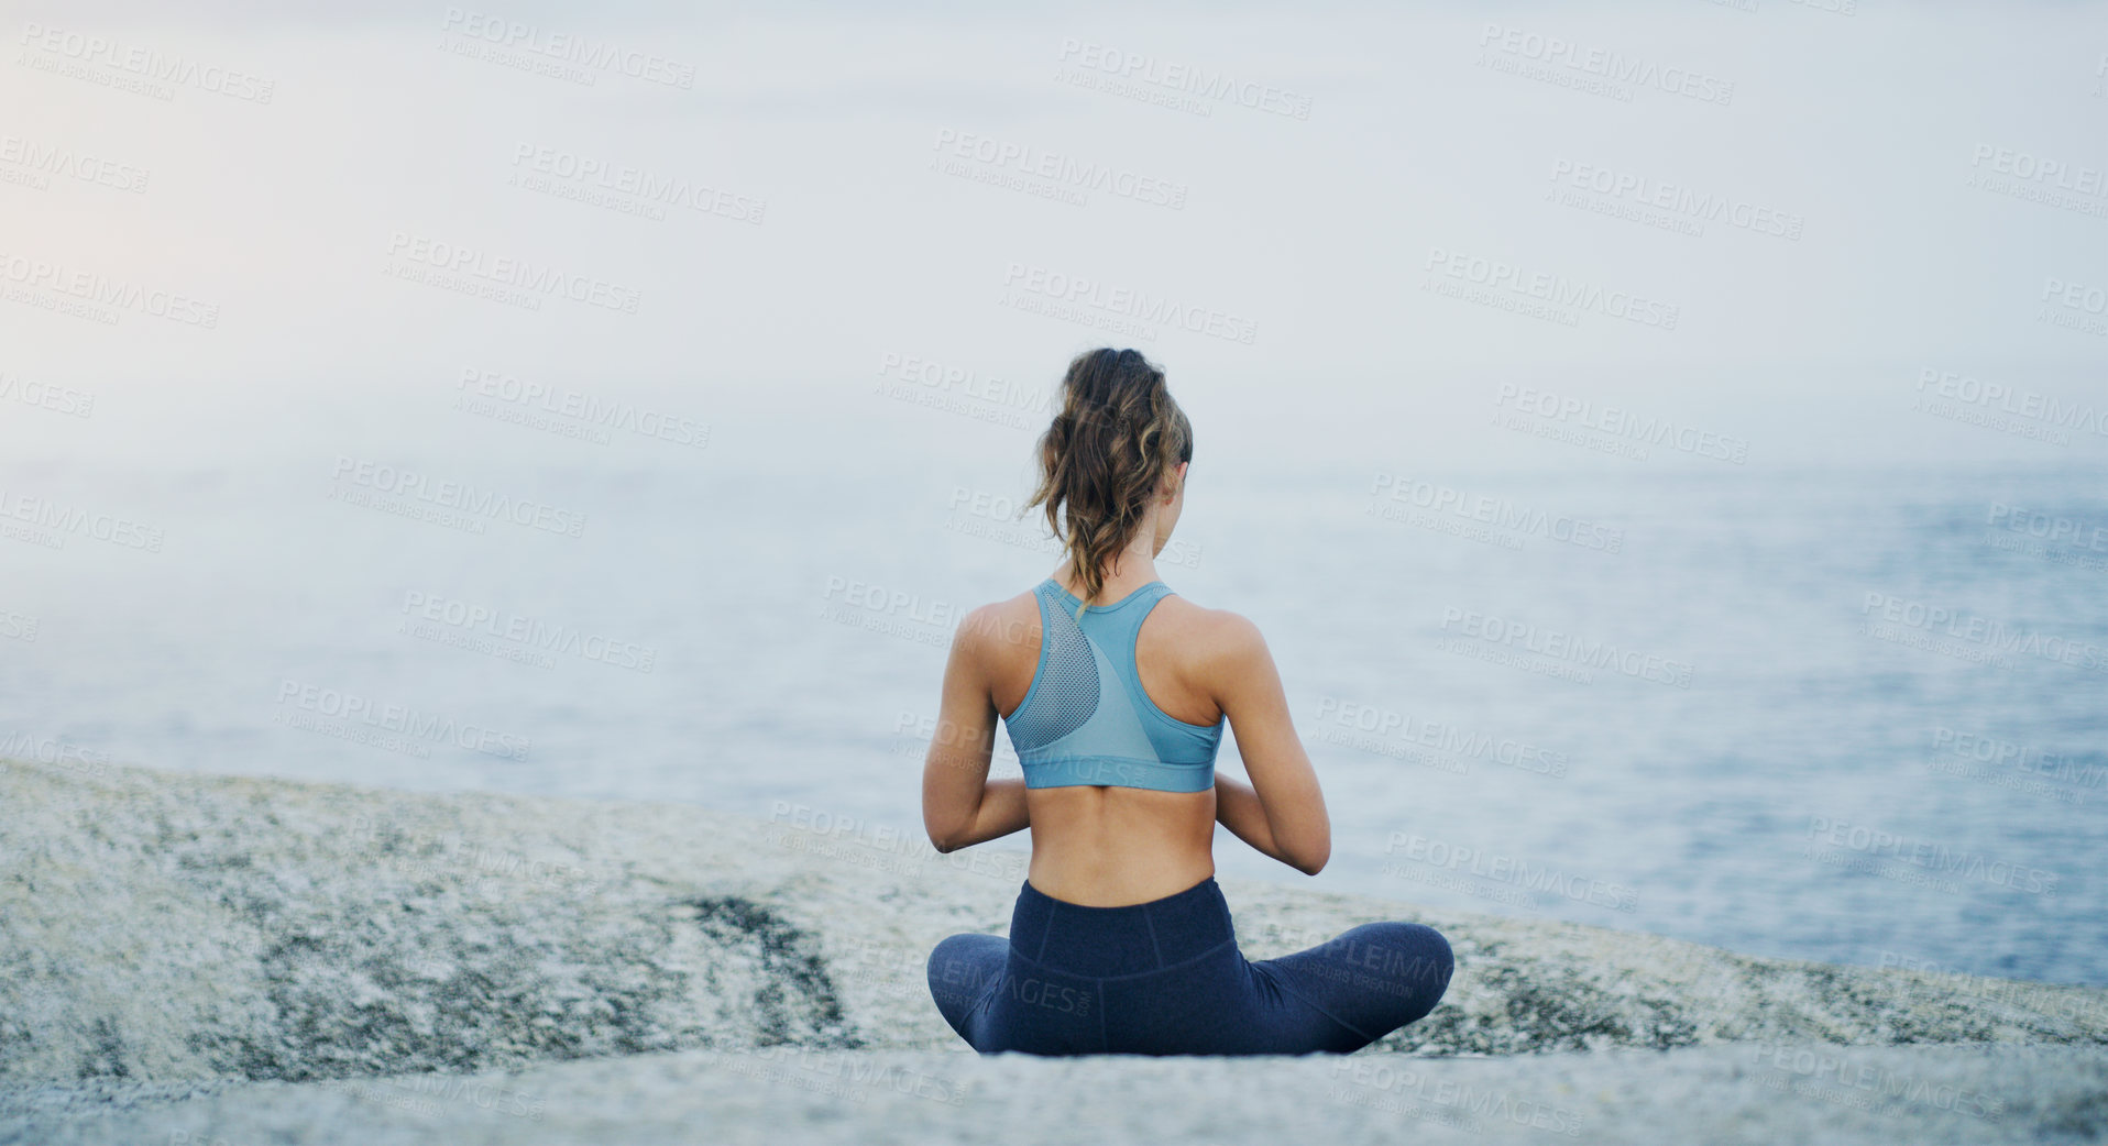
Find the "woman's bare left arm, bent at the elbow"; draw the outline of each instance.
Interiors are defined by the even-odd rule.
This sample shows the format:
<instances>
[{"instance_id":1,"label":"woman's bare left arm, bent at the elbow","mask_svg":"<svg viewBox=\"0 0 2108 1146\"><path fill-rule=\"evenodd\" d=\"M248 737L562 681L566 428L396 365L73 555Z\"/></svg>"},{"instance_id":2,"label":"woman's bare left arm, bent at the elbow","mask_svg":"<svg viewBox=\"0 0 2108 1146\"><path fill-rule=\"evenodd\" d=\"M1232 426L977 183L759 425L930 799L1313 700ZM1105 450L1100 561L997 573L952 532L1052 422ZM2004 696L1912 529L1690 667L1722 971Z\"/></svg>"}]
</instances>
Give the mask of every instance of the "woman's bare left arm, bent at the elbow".
<instances>
[{"instance_id":1,"label":"woman's bare left arm, bent at the elbow","mask_svg":"<svg viewBox=\"0 0 2108 1146\"><path fill-rule=\"evenodd\" d=\"M1022 779L989 779L995 752L995 702L982 649L995 632L993 605L974 609L951 636L944 693L923 758L923 830L930 847L959 851L1031 826Z\"/></svg>"}]
</instances>

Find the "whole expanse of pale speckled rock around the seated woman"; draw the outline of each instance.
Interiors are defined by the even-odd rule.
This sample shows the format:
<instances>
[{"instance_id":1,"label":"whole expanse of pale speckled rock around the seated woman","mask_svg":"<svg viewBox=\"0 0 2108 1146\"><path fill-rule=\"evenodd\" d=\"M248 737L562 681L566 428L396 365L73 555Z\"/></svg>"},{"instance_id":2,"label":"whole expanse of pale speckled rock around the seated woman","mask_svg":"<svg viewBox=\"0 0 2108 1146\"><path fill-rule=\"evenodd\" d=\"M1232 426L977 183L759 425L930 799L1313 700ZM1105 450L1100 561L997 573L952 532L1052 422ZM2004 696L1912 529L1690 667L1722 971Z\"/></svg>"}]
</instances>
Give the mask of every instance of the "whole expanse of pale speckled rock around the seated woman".
<instances>
[{"instance_id":1,"label":"whole expanse of pale speckled rock around the seated woman","mask_svg":"<svg viewBox=\"0 0 2108 1146\"><path fill-rule=\"evenodd\" d=\"M1128 1095L1088 1104L1113 1140L1286 1131L1288 1114L1252 1106L1267 1095L1318 1104L1349 1138L1400 1119L1429 1140L1465 1123L1547 1133L1436 1098L1463 1091L1566 1110L1594 1138L1670 1110L1655 1081L1684 1106L1703 1087L1710 1110L1798 1112L1811 1142L1823 1127L2108 1131L2100 988L1750 959L1225 881L1254 959L1408 918L1448 935L1457 980L1433 1015L1351 1060L980 1060L930 1005L923 961L953 931L1006 929L1020 851L936 855L801 807L757 822L19 763L0 771L0 1140L656 1142L681 1138L668 1110L687 1110L696 1140L772 1133L748 1108L809 1119L814 1140L898 1108L928 1131L902 1140L944 1140L957 1133L930 1127L970 1129L970 1106L1073 1123L1058 1091L1073 1106L1102 1087ZM1899 1047L1931 1043L2026 1047ZM1828 1066L1800 1070L1802 1053ZM1389 1083L1358 1076L1366 1064ZM1838 1095L1796 1091L1826 1079ZM1159 1087L1208 1100L1166 1104ZM540 1114L504 1110L529 1100ZM626 1123L630 1100L651 1114Z\"/></svg>"}]
</instances>

